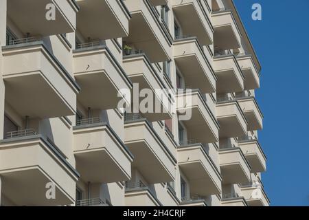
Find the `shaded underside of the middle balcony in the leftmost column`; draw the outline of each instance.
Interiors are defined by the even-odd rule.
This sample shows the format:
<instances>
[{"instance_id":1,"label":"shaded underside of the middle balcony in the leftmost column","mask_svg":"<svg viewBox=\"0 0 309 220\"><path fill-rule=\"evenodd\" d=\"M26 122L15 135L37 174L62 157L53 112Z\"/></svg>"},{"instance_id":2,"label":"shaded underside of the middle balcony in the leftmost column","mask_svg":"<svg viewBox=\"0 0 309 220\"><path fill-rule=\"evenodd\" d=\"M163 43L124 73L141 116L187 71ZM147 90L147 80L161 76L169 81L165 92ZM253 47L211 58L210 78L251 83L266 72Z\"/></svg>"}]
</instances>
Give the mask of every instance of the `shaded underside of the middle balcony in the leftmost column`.
<instances>
[{"instance_id":1,"label":"shaded underside of the middle balcony in the leftmost column","mask_svg":"<svg viewBox=\"0 0 309 220\"><path fill-rule=\"evenodd\" d=\"M41 72L3 76L3 80L5 101L21 116L43 119L75 112Z\"/></svg>"}]
</instances>

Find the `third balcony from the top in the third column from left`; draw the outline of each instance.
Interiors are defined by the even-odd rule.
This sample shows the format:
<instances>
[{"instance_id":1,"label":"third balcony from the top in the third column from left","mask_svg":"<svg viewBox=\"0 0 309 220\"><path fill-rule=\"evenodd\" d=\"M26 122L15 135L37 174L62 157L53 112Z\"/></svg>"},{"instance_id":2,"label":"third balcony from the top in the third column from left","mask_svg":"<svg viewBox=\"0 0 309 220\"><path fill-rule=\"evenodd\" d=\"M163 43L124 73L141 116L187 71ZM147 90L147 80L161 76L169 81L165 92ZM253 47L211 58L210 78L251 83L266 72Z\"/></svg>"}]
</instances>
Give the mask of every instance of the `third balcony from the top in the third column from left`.
<instances>
[{"instance_id":1,"label":"third balcony from the top in the third column from left","mask_svg":"<svg viewBox=\"0 0 309 220\"><path fill-rule=\"evenodd\" d=\"M132 167L148 184L174 181L176 159L146 119L126 116L124 134L124 143L134 155Z\"/></svg>"}]
</instances>

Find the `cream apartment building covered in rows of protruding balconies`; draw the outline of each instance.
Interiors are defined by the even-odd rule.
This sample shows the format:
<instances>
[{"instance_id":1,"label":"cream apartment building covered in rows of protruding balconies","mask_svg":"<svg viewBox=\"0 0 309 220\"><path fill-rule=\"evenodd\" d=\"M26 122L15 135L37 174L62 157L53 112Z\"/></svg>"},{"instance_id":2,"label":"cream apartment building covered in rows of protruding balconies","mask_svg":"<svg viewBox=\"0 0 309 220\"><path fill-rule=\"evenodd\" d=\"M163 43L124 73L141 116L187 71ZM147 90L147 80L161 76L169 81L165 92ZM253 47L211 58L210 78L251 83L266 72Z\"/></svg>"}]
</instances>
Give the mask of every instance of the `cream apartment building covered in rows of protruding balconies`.
<instances>
[{"instance_id":1,"label":"cream apartment building covered in rows of protruding balconies","mask_svg":"<svg viewBox=\"0 0 309 220\"><path fill-rule=\"evenodd\" d=\"M0 0L0 44L2 206L269 205L233 1Z\"/></svg>"}]
</instances>

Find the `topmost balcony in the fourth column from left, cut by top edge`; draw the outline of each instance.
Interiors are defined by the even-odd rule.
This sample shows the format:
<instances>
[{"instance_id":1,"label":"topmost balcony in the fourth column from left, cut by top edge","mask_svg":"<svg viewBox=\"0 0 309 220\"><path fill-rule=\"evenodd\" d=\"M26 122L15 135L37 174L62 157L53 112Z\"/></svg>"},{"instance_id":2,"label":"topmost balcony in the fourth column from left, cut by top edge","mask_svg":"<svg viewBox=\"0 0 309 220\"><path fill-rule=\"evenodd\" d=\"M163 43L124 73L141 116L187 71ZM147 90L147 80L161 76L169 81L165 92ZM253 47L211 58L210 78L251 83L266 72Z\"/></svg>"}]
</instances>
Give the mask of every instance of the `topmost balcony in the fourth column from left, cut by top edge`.
<instances>
[{"instance_id":1,"label":"topmost balcony in the fourth column from left, cut by top edge","mask_svg":"<svg viewBox=\"0 0 309 220\"><path fill-rule=\"evenodd\" d=\"M213 44L214 28L200 1L172 0L172 9L181 25L183 34L196 36L202 45Z\"/></svg>"}]
</instances>

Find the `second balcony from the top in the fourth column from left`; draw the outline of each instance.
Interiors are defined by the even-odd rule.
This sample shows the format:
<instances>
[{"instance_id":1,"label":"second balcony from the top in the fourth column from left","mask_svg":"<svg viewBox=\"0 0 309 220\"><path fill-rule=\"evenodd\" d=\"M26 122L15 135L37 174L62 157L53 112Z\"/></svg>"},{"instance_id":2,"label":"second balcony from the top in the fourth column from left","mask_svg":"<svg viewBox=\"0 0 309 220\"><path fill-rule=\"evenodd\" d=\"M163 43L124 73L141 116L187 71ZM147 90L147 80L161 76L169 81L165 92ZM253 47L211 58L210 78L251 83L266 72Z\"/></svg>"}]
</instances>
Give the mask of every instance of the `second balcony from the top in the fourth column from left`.
<instances>
[{"instance_id":1,"label":"second balcony from the top in the fourth column from left","mask_svg":"<svg viewBox=\"0 0 309 220\"><path fill-rule=\"evenodd\" d=\"M187 85L200 89L204 94L216 91L216 76L195 37L178 36L173 50L174 60Z\"/></svg>"}]
</instances>

